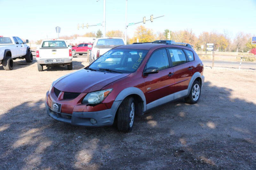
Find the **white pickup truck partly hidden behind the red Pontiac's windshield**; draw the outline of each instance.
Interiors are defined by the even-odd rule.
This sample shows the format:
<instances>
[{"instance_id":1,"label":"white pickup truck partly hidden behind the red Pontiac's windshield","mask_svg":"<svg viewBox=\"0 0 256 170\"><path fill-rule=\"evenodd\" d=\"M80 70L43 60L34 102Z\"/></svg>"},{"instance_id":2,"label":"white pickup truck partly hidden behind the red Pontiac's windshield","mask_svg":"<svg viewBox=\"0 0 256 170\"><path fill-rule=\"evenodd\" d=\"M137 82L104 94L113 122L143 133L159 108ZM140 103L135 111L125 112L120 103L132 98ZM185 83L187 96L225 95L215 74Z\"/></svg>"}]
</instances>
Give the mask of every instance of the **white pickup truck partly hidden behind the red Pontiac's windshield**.
<instances>
[{"instance_id":1,"label":"white pickup truck partly hidden behind the red Pontiac's windshield","mask_svg":"<svg viewBox=\"0 0 256 170\"><path fill-rule=\"evenodd\" d=\"M91 64L110 49L124 44L124 40L118 37L97 38L92 46L89 63Z\"/></svg>"}]
</instances>

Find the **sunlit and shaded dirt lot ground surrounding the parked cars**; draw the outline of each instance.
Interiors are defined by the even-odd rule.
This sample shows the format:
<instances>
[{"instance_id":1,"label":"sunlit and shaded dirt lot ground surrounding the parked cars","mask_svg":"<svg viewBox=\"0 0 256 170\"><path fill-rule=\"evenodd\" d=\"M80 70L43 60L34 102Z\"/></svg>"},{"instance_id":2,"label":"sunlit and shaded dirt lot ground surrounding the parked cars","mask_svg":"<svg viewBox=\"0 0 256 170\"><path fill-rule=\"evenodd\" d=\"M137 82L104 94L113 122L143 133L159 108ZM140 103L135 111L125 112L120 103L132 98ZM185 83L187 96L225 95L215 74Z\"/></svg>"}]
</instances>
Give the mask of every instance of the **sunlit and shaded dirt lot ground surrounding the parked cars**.
<instances>
[{"instance_id":1,"label":"sunlit and shaded dirt lot ground surrounding the parked cars","mask_svg":"<svg viewBox=\"0 0 256 170\"><path fill-rule=\"evenodd\" d=\"M74 70L87 65L74 58ZM52 81L34 60L0 66L0 169L256 169L256 71L205 67L195 105L183 100L136 118L131 133L85 128L46 114Z\"/></svg>"}]
</instances>

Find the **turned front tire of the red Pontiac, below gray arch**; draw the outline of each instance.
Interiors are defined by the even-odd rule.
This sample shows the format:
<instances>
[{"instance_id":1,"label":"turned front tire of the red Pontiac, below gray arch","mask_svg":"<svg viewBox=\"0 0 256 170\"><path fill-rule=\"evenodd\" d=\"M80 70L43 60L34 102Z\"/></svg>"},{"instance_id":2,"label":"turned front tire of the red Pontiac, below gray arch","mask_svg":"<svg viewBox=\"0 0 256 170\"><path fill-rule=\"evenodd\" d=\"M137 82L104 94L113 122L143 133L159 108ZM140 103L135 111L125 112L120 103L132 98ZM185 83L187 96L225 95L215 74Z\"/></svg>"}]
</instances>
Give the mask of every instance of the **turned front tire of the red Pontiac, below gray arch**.
<instances>
[{"instance_id":1,"label":"turned front tire of the red Pontiac, below gray arch","mask_svg":"<svg viewBox=\"0 0 256 170\"><path fill-rule=\"evenodd\" d=\"M117 109L117 129L122 132L132 131L135 116L135 101L132 97L123 100Z\"/></svg>"}]
</instances>

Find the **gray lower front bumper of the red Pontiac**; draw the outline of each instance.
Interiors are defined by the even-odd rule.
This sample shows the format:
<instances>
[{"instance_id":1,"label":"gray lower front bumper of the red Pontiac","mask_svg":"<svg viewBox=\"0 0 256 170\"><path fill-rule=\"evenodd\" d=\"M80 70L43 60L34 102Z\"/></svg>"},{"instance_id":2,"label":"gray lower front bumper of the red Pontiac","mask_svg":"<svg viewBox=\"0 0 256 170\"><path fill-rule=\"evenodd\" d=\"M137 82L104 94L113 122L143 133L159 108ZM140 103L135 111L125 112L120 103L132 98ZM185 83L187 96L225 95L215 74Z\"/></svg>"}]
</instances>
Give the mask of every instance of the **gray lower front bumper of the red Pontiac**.
<instances>
[{"instance_id":1,"label":"gray lower front bumper of the red Pontiac","mask_svg":"<svg viewBox=\"0 0 256 170\"><path fill-rule=\"evenodd\" d=\"M46 112L53 119L60 122L70 123L72 125L87 126L87 127L100 127L109 126L114 123L117 108L121 104L121 101L114 101L110 109L101 110L97 112L73 112L73 114L57 113L50 109L46 101L44 101ZM92 124L90 119L93 118L97 122Z\"/></svg>"}]
</instances>

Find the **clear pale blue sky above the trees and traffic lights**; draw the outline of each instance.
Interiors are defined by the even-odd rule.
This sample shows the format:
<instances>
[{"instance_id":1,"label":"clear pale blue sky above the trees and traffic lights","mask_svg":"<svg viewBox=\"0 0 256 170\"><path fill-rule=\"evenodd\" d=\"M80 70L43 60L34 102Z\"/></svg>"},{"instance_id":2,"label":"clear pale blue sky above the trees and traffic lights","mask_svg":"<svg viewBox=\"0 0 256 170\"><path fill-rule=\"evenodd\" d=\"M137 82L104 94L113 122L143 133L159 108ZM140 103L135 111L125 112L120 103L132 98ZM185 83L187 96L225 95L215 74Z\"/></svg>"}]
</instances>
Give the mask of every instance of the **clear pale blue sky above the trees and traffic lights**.
<instances>
[{"instance_id":1,"label":"clear pale blue sky above the trees and traffic lights","mask_svg":"<svg viewBox=\"0 0 256 170\"><path fill-rule=\"evenodd\" d=\"M17 35L23 39L55 38L60 35L84 34L102 30L102 26L80 28L77 24L97 24L103 21L103 0L0 0L0 35ZM128 0L127 22L139 22L165 15L142 24L156 33L168 28L173 31L192 29L203 31L224 29L231 36L243 31L256 35L256 0ZM128 27L128 36L140 24ZM106 0L106 31L125 26L125 0Z\"/></svg>"}]
</instances>

